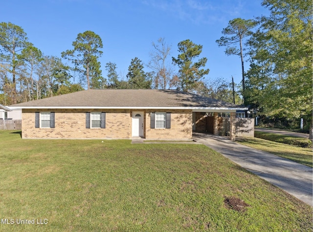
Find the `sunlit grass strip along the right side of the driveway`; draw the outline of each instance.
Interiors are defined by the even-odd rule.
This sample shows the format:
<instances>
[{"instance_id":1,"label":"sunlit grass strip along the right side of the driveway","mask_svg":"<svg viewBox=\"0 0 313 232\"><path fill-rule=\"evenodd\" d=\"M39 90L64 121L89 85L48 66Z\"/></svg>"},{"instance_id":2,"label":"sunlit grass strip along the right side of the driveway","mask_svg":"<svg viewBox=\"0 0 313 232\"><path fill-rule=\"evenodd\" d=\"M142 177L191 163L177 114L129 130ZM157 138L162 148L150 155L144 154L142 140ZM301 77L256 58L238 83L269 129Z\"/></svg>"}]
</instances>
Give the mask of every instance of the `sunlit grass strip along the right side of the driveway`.
<instances>
[{"instance_id":1,"label":"sunlit grass strip along the right side of the driveway","mask_svg":"<svg viewBox=\"0 0 313 232\"><path fill-rule=\"evenodd\" d=\"M237 138L236 142L312 167L312 148L301 148L260 138Z\"/></svg>"}]
</instances>

